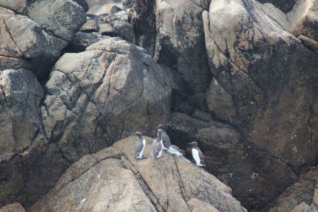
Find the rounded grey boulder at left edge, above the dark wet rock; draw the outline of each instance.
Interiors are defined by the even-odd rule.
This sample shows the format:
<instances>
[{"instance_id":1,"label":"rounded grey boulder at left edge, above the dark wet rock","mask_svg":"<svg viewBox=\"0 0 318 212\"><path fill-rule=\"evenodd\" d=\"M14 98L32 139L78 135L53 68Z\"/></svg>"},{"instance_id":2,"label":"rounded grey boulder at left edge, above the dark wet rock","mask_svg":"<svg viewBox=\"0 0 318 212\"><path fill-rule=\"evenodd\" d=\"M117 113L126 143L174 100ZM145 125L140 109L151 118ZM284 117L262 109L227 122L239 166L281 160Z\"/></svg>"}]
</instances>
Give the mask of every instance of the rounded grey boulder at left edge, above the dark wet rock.
<instances>
[{"instance_id":1,"label":"rounded grey boulder at left edge, above the dark wet rock","mask_svg":"<svg viewBox=\"0 0 318 212\"><path fill-rule=\"evenodd\" d=\"M43 90L26 69L0 71L0 163L31 145Z\"/></svg>"}]
</instances>

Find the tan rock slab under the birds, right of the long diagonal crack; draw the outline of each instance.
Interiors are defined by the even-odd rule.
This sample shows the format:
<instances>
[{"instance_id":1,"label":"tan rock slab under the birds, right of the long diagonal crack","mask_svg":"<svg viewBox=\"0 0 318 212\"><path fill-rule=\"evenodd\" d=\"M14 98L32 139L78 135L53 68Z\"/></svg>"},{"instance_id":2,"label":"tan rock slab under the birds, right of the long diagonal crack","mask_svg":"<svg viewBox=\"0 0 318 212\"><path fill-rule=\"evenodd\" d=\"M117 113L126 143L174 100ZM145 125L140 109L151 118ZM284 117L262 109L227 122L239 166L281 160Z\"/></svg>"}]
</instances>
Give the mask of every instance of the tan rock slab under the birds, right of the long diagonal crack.
<instances>
[{"instance_id":1,"label":"tan rock slab under the birds, right of the long diagonal crack","mask_svg":"<svg viewBox=\"0 0 318 212\"><path fill-rule=\"evenodd\" d=\"M151 152L154 139L145 138L144 153ZM132 147L136 139L128 137L116 142L125 156L124 165L133 170L136 176L141 176L147 185L152 202L158 211L190 211L187 201L197 198L220 211L245 211L235 200L232 190L221 183L216 177L185 161L185 158L175 157L163 152L163 158L137 161L134 160ZM147 190L147 189L145 189Z\"/></svg>"}]
</instances>

